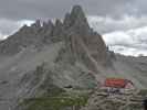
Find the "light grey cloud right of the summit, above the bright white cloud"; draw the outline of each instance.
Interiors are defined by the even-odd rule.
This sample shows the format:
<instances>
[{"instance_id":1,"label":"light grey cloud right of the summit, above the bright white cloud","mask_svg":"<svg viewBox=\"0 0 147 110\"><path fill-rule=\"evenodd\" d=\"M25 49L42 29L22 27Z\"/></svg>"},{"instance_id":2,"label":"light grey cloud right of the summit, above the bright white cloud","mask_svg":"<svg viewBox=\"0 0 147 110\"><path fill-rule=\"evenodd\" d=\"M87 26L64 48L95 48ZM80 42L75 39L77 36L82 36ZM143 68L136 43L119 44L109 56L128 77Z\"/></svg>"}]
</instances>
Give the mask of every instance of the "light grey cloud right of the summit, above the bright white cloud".
<instances>
[{"instance_id":1,"label":"light grey cloud right of the summit, above the bright white cloud","mask_svg":"<svg viewBox=\"0 0 147 110\"><path fill-rule=\"evenodd\" d=\"M124 15L116 20L111 16L91 15L87 19L91 26L102 34L114 31L128 31L147 25L147 16Z\"/></svg>"}]
</instances>

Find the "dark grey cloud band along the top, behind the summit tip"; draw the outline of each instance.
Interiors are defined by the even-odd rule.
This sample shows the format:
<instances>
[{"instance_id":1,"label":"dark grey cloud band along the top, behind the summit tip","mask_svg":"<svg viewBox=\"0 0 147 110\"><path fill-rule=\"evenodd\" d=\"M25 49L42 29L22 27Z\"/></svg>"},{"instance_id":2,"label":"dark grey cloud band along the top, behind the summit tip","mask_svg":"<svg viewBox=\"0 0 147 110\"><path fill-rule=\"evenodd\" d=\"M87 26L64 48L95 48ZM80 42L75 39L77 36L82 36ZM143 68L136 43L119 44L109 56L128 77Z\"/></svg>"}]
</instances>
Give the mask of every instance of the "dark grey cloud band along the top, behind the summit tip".
<instances>
[{"instance_id":1,"label":"dark grey cloud band along the top, behind the summit tip","mask_svg":"<svg viewBox=\"0 0 147 110\"><path fill-rule=\"evenodd\" d=\"M63 18L73 4L81 4L87 14L122 15L134 0L1 0L0 18ZM127 11L126 11L127 10ZM133 10L130 8L130 10Z\"/></svg>"}]
</instances>

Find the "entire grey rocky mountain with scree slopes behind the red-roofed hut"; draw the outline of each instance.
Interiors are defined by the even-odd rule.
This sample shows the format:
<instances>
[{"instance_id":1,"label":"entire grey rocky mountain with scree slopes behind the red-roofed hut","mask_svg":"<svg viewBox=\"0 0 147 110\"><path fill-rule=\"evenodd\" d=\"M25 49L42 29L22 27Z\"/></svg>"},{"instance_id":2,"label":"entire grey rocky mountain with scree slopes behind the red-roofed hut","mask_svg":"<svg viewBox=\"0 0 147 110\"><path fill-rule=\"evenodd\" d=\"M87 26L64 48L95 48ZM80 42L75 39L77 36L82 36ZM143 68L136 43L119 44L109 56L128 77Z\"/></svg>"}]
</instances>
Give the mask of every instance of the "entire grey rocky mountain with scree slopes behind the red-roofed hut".
<instances>
[{"instance_id":1,"label":"entire grey rocky mountain with scree slopes behind the red-roofed hut","mask_svg":"<svg viewBox=\"0 0 147 110\"><path fill-rule=\"evenodd\" d=\"M74 6L63 21L36 20L0 42L0 110L27 110L15 109L24 98L93 89L106 77L128 78L145 88L146 61L111 53L82 8Z\"/></svg>"}]
</instances>

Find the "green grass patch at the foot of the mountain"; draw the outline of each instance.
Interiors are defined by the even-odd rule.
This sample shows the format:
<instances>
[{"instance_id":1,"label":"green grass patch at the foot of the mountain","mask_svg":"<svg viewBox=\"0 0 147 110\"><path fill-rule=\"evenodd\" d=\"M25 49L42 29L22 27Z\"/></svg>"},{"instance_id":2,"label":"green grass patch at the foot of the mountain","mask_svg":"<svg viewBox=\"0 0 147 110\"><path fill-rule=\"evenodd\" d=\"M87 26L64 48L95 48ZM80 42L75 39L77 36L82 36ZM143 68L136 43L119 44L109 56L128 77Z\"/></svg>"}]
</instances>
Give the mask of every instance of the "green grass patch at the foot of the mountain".
<instances>
[{"instance_id":1,"label":"green grass patch at the foot of the mountain","mask_svg":"<svg viewBox=\"0 0 147 110\"><path fill-rule=\"evenodd\" d=\"M56 97L39 97L24 99L22 106L25 110L64 110L65 108L83 107L88 95L61 94Z\"/></svg>"}]
</instances>

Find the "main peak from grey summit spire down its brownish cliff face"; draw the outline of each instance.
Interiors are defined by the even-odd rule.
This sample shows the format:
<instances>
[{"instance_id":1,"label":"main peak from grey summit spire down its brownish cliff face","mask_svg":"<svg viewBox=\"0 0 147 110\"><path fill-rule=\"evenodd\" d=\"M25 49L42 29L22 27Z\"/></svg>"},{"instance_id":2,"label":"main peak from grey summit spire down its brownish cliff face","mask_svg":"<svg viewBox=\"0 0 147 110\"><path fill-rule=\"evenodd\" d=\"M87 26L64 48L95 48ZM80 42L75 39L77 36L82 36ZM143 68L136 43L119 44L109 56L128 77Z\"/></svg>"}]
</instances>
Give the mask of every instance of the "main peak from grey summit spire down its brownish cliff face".
<instances>
[{"instance_id":1,"label":"main peak from grey summit spire down its brownish cliff face","mask_svg":"<svg viewBox=\"0 0 147 110\"><path fill-rule=\"evenodd\" d=\"M80 6L67 13L63 23L75 57L97 73L98 64L108 64L106 45L99 34L94 32Z\"/></svg>"}]
</instances>

